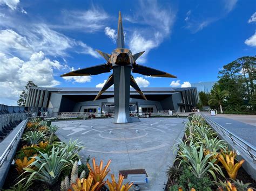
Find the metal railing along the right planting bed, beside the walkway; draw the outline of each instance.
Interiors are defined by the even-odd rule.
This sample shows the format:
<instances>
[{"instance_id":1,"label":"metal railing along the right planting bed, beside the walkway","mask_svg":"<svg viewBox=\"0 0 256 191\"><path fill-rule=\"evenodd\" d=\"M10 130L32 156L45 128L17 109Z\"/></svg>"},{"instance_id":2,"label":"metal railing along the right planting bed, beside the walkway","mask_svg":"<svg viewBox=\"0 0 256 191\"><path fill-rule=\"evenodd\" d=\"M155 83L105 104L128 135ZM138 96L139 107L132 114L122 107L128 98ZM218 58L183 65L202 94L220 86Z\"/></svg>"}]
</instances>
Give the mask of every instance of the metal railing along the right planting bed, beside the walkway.
<instances>
[{"instance_id":1,"label":"metal railing along the right planting bed, beside the walkway","mask_svg":"<svg viewBox=\"0 0 256 191\"><path fill-rule=\"evenodd\" d=\"M233 142L233 145L238 146L241 151L246 153L248 157L250 157L253 160L253 163L256 163L256 147L251 145L250 143L247 143L244 139L234 135L234 133L228 131L220 124L212 121L209 117L207 117L205 114L201 114L206 120L206 122L212 126L214 130L218 130L223 134L224 137L227 137Z\"/></svg>"}]
</instances>

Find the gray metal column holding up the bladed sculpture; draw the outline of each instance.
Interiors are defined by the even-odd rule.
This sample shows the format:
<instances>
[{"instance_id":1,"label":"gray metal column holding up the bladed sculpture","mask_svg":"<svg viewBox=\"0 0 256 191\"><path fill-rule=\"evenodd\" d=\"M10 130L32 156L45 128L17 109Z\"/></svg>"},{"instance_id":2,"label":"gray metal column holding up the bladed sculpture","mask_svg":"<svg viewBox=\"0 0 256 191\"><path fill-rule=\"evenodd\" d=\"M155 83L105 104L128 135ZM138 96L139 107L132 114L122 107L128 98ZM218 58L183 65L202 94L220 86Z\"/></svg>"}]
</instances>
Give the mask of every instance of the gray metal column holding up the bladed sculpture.
<instances>
[{"instance_id":1,"label":"gray metal column holding up the bladed sculpture","mask_svg":"<svg viewBox=\"0 0 256 191\"><path fill-rule=\"evenodd\" d=\"M130 76L131 66L113 66L114 120L113 123L130 122Z\"/></svg>"}]
</instances>

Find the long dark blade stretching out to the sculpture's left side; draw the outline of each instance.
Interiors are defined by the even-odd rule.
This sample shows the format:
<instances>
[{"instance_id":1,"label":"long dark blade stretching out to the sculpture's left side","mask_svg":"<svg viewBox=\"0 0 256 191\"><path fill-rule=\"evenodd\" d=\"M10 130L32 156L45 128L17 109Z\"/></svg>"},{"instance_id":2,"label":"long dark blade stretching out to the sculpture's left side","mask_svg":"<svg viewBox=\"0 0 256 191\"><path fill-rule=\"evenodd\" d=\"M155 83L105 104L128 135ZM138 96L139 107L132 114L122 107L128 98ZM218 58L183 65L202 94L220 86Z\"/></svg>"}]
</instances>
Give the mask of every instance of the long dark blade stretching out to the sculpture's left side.
<instances>
[{"instance_id":1,"label":"long dark blade stretching out to the sculpture's left side","mask_svg":"<svg viewBox=\"0 0 256 191\"><path fill-rule=\"evenodd\" d=\"M97 75L102 74L106 72L110 72L111 68L103 63L102 65L92 66L88 68L78 69L74 70L72 72L66 73L61 75L62 77L65 76L90 76L90 75Z\"/></svg>"}]
</instances>

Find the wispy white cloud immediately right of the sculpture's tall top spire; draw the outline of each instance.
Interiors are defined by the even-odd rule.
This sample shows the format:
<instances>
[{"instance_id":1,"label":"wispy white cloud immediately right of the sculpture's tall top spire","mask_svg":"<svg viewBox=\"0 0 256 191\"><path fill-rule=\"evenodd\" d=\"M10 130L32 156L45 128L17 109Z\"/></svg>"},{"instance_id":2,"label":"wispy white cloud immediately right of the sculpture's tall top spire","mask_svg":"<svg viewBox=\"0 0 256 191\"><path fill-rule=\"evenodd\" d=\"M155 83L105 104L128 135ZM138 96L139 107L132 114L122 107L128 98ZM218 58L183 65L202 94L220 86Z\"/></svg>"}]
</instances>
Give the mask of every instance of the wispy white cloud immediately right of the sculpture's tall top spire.
<instances>
[{"instance_id":1,"label":"wispy white cloud immediately right of the sculpture's tall top spire","mask_svg":"<svg viewBox=\"0 0 256 191\"><path fill-rule=\"evenodd\" d=\"M140 1L136 16L125 18L131 23L143 25L142 28L133 30L128 44L133 54L146 51L137 60L145 63L147 53L152 48L158 47L164 38L170 36L176 12L169 6L160 7L157 1Z\"/></svg>"}]
</instances>

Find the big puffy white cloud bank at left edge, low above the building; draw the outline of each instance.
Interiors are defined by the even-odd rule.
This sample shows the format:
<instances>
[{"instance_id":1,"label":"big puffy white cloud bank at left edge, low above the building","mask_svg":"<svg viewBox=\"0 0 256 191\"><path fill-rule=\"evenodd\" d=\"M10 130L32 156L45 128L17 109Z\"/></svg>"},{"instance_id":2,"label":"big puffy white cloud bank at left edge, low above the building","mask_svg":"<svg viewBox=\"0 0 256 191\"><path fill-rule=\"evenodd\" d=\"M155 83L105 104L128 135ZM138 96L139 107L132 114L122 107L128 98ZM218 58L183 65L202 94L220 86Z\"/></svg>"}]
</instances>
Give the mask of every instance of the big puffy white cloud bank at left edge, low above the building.
<instances>
[{"instance_id":1,"label":"big puffy white cloud bank at left edge, low above the building","mask_svg":"<svg viewBox=\"0 0 256 191\"><path fill-rule=\"evenodd\" d=\"M32 80L38 86L54 87L60 84L53 77L53 70L63 66L57 60L45 58L43 52L36 52L29 60L0 53L0 100L5 104L16 104L26 82Z\"/></svg>"}]
</instances>

